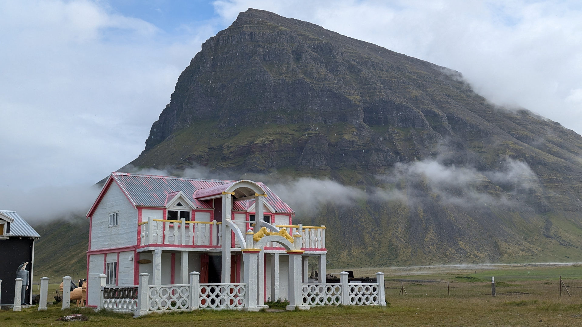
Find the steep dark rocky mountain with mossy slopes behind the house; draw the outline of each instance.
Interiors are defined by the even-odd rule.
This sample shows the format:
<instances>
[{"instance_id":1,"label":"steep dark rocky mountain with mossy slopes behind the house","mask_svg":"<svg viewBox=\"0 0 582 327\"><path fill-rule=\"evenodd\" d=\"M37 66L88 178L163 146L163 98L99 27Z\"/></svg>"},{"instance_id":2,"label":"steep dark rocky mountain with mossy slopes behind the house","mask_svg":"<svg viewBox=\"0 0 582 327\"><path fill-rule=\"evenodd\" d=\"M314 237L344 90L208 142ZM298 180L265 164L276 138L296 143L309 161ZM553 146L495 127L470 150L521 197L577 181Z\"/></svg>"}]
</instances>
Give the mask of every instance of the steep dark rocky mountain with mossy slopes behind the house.
<instances>
[{"instance_id":1,"label":"steep dark rocky mountain with mossy slopes behind the house","mask_svg":"<svg viewBox=\"0 0 582 327\"><path fill-rule=\"evenodd\" d=\"M383 265L582 258L581 155L579 134L454 70L249 9L203 44L132 164L397 194L298 217L329 226L332 264Z\"/></svg>"}]
</instances>

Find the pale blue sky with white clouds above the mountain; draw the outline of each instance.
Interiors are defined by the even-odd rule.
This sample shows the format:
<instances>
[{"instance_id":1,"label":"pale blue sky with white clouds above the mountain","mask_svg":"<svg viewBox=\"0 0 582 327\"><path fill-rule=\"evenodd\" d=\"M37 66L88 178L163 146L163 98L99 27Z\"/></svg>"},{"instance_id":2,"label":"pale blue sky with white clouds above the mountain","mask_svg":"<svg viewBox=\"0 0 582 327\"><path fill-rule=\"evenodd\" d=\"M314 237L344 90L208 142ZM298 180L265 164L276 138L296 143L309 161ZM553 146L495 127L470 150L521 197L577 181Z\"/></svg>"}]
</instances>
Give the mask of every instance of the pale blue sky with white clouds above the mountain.
<instances>
[{"instance_id":1,"label":"pale blue sky with white clouds above the mountain","mask_svg":"<svg viewBox=\"0 0 582 327\"><path fill-rule=\"evenodd\" d=\"M200 45L249 7L459 70L582 133L578 1L0 0L0 208L80 196L136 158Z\"/></svg>"}]
</instances>

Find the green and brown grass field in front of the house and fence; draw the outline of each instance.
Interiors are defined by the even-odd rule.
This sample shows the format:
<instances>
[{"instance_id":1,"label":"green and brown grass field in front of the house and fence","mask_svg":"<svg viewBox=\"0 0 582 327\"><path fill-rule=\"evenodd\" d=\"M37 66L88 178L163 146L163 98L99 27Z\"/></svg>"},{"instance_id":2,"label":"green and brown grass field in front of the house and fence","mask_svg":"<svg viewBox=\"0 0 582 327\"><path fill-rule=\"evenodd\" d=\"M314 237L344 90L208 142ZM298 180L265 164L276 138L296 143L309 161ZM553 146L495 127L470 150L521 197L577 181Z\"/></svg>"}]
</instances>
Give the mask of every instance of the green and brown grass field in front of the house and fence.
<instances>
[{"instance_id":1,"label":"green and brown grass field in front of the house and fence","mask_svg":"<svg viewBox=\"0 0 582 327\"><path fill-rule=\"evenodd\" d=\"M420 275L415 275L415 269ZM201 310L132 318L84 308L63 312L49 306L44 312L34 307L22 312L1 311L0 326L581 326L581 271L580 265L498 266L483 271L455 268L453 272L411 268L392 275L386 271L388 307L317 307L292 312ZM491 296L492 275L497 284L495 297ZM565 291L559 296L559 275L569 285L572 297ZM401 286L406 295L399 295ZM73 312L86 314L89 320L55 321Z\"/></svg>"}]
</instances>

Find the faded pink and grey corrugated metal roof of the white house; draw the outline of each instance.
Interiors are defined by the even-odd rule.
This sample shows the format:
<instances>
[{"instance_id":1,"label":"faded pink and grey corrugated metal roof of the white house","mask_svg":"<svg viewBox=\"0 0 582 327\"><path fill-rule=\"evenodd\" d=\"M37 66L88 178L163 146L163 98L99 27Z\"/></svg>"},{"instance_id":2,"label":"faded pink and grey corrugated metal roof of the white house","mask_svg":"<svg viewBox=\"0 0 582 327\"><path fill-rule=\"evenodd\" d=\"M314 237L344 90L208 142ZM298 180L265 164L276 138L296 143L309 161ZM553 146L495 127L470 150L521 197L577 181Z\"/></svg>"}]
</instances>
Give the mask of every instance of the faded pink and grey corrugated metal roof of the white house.
<instances>
[{"instance_id":1,"label":"faded pink and grey corrugated metal roof of the white house","mask_svg":"<svg viewBox=\"0 0 582 327\"><path fill-rule=\"evenodd\" d=\"M132 173L113 172L113 179L125 191L130 201L141 207L165 207L168 194L182 191L189 197L197 208L212 208L207 201L194 198L199 189L211 189L225 184L232 184L235 180L195 179L175 176L139 175ZM276 196L265 184L259 184L265 191L265 201L275 209L275 212L293 214L294 211L281 198ZM237 201L238 202L238 201ZM237 208L239 209L239 208Z\"/></svg>"}]
</instances>

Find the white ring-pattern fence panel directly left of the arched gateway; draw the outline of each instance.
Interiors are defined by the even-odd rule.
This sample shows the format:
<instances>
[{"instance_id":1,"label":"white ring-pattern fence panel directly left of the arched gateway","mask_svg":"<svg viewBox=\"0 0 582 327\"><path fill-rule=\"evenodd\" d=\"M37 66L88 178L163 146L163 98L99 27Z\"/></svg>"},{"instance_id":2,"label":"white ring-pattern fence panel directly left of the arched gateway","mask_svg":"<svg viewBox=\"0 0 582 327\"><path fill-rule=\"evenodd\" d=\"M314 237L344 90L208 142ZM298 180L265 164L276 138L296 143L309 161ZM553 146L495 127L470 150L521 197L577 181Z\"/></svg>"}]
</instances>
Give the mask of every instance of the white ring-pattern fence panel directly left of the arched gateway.
<instances>
[{"instance_id":1,"label":"white ring-pattern fence panel directly left of the arched gateway","mask_svg":"<svg viewBox=\"0 0 582 327\"><path fill-rule=\"evenodd\" d=\"M246 283L200 284L200 308L243 308Z\"/></svg>"}]
</instances>

